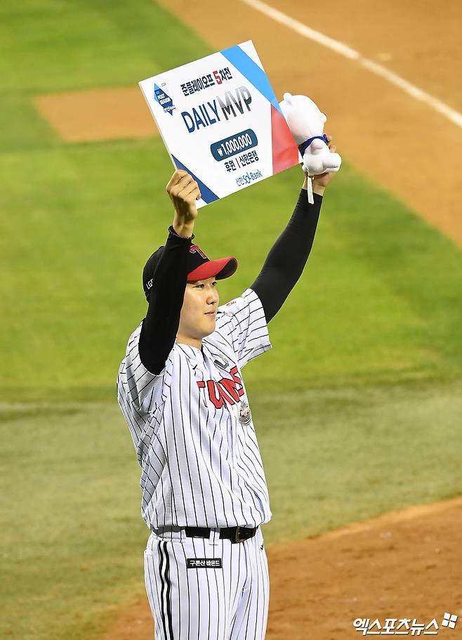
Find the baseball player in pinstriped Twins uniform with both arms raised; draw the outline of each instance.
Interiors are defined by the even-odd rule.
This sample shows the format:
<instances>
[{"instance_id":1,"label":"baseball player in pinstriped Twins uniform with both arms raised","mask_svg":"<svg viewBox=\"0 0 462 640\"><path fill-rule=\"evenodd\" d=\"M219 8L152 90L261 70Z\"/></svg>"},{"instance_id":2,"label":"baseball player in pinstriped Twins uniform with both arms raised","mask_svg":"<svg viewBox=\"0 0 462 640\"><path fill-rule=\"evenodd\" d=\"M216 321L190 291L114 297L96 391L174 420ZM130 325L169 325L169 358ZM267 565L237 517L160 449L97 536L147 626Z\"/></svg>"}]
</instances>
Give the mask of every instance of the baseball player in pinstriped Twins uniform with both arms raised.
<instances>
[{"instance_id":1,"label":"baseball player in pinstriped Twins uniform with both arms raised","mask_svg":"<svg viewBox=\"0 0 462 640\"><path fill-rule=\"evenodd\" d=\"M331 146L331 150L335 150ZM307 180L255 282L218 306L237 260L194 244L197 183L175 171L164 247L143 270L147 314L128 340L118 400L142 469L151 530L145 584L157 640L260 640L268 563L260 525L271 517L242 369L271 347L268 322L310 254L326 184Z\"/></svg>"}]
</instances>

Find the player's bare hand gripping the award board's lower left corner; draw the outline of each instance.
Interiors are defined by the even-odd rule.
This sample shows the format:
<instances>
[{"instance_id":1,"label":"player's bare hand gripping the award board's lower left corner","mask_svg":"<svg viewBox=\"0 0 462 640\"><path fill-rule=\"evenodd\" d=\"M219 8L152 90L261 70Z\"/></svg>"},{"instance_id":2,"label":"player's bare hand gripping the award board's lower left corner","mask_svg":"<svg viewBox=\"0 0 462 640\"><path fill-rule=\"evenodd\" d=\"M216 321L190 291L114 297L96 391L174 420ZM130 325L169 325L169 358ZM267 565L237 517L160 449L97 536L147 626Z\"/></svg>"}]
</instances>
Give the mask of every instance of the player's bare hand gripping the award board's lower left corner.
<instances>
[{"instance_id":1,"label":"player's bare hand gripping the award board's lower left corner","mask_svg":"<svg viewBox=\"0 0 462 640\"><path fill-rule=\"evenodd\" d=\"M197 218L196 200L201 197L199 185L187 171L176 169L166 190L175 209L173 228L179 235L192 235Z\"/></svg>"}]
</instances>

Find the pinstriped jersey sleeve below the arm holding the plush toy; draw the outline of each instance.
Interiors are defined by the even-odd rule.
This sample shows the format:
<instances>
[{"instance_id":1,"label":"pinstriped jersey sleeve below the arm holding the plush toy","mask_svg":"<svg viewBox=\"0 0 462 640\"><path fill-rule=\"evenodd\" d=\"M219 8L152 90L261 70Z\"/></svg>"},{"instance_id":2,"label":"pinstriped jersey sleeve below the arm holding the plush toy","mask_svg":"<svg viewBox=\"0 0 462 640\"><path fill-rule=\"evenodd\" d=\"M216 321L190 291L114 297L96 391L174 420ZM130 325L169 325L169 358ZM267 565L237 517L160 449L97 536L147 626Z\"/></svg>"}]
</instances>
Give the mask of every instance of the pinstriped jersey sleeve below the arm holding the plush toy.
<instances>
[{"instance_id":1,"label":"pinstriped jersey sleeve below the arm holding the plush toy","mask_svg":"<svg viewBox=\"0 0 462 640\"><path fill-rule=\"evenodd\" d=\"M216 331L232 345L241 369L271 348L265 312L252 289L218 307Z\"/></svg>"}]
</instances>

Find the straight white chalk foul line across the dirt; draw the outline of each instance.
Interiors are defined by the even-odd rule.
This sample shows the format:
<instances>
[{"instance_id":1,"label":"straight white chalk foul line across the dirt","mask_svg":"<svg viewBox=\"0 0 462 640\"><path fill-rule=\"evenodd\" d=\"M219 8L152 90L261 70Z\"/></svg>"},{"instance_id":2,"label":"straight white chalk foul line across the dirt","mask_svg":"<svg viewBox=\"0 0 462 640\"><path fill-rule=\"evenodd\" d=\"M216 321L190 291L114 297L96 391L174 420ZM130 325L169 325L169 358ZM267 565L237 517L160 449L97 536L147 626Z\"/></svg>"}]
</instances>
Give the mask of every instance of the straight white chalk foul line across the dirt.
<instances>
[{"instance_id":1,"label":"straight white chalk foul line across the dirt","mask_svg":"<svg viewBox=\"0 0 462 640\"><path fill-rule=\"evenodd\" d=\"M343 55L344 58L355 60L359 65L364 67L364 69L382 77L390 82L390 84L394 84L399 89L402 89L404 93L407 93L412 98L425 103L425 105L428 105L428 107L431 107L433 110L462 128L461 113L455 109L451 109L451 107L442 102L442 100L435 98L435 96L431 96L430 93L423 91L423 89L419 89L418 86L411 84L411 82L393 73L386 67L383 67L383 65L379 65L369 58L364 58L359 51L355 51L355 49L343 44L343 42L334 40L319 31L307 27L303 22L299 22L298 20L291 18L289 15L282 13L282 11L275 9L262 0L242 0L242 2L251 6L253 9L256 9L256 11L260 11L260 13L266 15L267 18L272 18L272 20L279 22L279 24L284 25L284 27L288 27L302 37L317 42L317 44L321 44L322 46L331 49L331 51L335 51L339 55Z\"/></svg>"}]
</instances>

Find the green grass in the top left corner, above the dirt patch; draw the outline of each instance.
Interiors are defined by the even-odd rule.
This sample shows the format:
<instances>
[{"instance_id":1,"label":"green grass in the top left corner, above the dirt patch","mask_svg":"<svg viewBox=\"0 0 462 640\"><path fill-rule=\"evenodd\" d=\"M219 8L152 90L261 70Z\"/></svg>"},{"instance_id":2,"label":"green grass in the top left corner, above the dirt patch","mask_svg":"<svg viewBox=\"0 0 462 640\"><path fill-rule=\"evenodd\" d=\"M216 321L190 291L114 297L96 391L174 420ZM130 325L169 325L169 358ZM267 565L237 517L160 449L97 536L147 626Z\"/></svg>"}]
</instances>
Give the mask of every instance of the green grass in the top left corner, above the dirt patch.
<instances>
[{"instance_id":1,"label":"green grass in the top left corner, above the dirt patch","mask_svg":"<svg viewBox=\"0 0 462 640\"><path fill-rule=\"evenodd\" d=\"M136 89L143 78L211 53L152 0L5 0L0 41L1 152L62 145L34 96ZM117 112L117 103L112 108Z\"/></svg>"}]
</instances>

